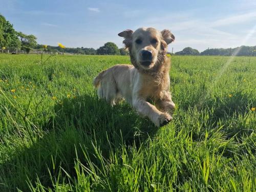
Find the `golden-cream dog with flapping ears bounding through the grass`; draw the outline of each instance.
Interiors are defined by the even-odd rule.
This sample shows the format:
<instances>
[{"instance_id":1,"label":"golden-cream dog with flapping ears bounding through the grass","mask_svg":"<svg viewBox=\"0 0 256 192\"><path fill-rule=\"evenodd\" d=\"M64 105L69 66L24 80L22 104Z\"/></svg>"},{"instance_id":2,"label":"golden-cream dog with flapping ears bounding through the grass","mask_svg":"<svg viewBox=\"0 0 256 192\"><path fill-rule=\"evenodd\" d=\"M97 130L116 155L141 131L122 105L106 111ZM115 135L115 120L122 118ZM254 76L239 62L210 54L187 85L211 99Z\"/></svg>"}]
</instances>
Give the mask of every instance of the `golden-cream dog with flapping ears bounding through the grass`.
<instances>
[{"instance_id":1,"label":"golden-cream dog with flapping ears bounding through the grass","mask_svg":"<svg viewBox=\"0 0 256 192\"><path fill-rule=\"evenodd\" d=\"M124 37L133 65L115 65L100 72L93 81L98 97L112 105L125 99L156 126L167 124L173 119L168 112L175 109L169 92L170 58L166 55L167 45L175 40L173 33L139 28L118 35Z\"/></svg>"}]
</instances>

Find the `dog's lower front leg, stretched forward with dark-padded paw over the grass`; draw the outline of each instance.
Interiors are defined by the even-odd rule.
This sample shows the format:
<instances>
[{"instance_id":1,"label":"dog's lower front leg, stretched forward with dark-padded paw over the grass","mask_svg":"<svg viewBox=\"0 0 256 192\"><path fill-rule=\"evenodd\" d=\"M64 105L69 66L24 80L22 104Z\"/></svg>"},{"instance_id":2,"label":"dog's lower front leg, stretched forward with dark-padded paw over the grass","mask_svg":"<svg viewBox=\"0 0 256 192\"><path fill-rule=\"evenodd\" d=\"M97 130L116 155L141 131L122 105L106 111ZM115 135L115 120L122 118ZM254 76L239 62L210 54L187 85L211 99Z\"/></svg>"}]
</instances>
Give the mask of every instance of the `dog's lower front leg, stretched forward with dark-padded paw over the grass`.
<instances>
[{"instance_id":1,"label":"dog's lower front leg, stretched forward with dark-padded paw over the grass","mask_svg":"<svg viewBox=\"0 0 256 192\"><path fill-rule=\"evenodd\" d=\"M150 118L150 120L158 127L167 124L173 119L168 113L160 112L156 106L145 101L143 98L133 99L133 106L139 114Z\"/></svg>"}]
</instances>

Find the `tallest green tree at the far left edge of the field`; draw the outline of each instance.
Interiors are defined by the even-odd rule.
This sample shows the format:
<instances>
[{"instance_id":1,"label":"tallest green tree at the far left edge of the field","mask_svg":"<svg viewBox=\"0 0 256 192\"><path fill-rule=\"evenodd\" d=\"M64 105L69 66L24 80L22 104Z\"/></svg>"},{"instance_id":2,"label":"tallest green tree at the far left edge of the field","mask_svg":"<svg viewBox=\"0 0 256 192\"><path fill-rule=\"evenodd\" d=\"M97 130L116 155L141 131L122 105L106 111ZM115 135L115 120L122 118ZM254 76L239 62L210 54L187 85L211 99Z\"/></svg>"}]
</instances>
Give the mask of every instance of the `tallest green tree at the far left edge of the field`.
<instances>
[{"instance_id":1,"label":"tallest green tree at the far left edge of the field","mask_svg":"<svg viewBox=\"0 0 256 192\"><path fill-rule=\"evenodd\" d=\"M13 25L0 14L0 47L16 49L19 46L19 39Z\"/></svg>"}]
</instances>

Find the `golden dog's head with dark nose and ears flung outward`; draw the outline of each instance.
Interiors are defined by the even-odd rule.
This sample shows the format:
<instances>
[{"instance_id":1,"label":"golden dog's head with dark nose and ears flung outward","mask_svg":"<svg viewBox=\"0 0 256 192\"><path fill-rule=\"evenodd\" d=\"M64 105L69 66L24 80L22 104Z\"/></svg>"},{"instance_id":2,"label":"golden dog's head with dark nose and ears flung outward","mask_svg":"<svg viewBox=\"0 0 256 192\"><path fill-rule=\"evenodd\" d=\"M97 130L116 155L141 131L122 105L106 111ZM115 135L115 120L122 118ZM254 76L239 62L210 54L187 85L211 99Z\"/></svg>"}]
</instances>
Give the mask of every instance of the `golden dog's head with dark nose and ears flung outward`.
<instances>
[{"instance_id":1,"label":"golden dog's head with dark nose and ears flung outward","mask_svg":"<svg viewBox=\"0 0 256 192\"><path fill-rule=\"evenodd\" d=\"M135 32L127 29L118 35L124 37L123 43L130 51L133 65L143 71L163 62L167 45L175 39L169 30L159 32L154 28L139 28Z\"/></svg>"}]
</instances>

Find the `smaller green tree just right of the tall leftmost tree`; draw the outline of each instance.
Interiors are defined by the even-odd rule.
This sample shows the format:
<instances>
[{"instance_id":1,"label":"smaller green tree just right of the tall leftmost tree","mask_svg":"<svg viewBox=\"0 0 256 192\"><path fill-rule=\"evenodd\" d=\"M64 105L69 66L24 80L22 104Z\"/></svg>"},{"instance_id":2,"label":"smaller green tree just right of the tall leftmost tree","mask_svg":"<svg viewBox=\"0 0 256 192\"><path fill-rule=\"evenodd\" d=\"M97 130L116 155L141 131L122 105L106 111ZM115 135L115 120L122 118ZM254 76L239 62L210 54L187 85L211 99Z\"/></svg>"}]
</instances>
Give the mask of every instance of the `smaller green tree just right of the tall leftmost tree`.
<instances>
[{"instance_id":1,"label":"smaller green tree just right of the tall leftmost tree","mask_svg":"<svg viewBox=\"0 0 256 192\"><path fill-rule=\"evenodd\" d=\"M17 32L17 36L21 41L22 50L27 51L27 50L30 50L31 48L36 48L37 42L36 42L36 37L34 35L26 35L22 32Z\"/></svg>"}]
</instances>

